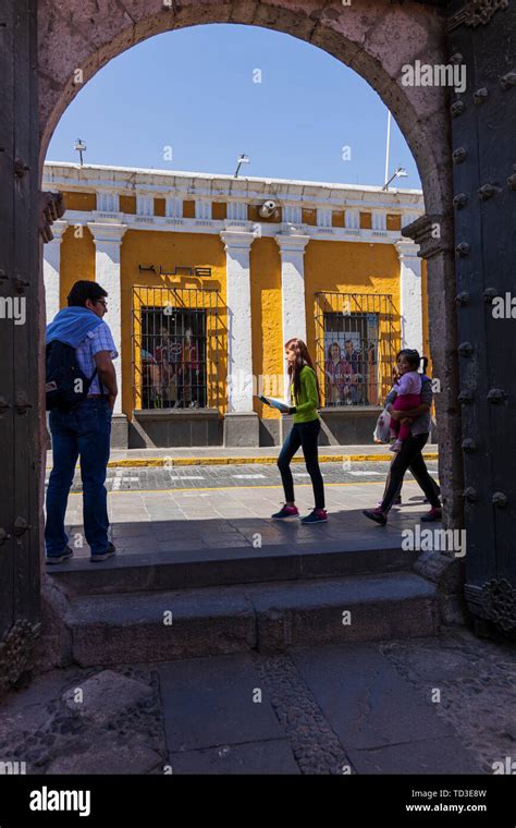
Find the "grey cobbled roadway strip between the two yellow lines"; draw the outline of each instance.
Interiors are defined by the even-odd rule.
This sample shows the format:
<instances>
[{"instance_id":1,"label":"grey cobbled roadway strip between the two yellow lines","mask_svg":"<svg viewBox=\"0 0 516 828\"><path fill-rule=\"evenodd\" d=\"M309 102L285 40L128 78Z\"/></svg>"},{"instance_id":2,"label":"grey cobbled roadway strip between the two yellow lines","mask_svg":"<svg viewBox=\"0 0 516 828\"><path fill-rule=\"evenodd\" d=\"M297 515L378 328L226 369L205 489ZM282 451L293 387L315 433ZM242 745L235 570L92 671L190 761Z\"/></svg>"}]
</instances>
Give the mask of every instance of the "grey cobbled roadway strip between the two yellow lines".
<instances>
[{"instance_id":1,"label":"grey cobbled roadway strip between the two yellow lines","mask_svg":"<svg viewBox=\"0 0 516 828\"><path fill-rule=\"evenodd\" d=\"M437 476L438 464L428 461L429 471ZM324 463L322 477L327 484L353 484L367 480L384 480L389 463L351 462ZM293 465L294 483L310 483L304 463ZM410 479L411 475L407 475ZM48 483L48 474L47 480ZM187 467L135 466L108 468L106 487L108 491L153 491L218 487L277 486L280 473L275 464L249 465L194 465ZM74 477L73 492L82 491L81 475Z\"/></svg>"}]
</instances>

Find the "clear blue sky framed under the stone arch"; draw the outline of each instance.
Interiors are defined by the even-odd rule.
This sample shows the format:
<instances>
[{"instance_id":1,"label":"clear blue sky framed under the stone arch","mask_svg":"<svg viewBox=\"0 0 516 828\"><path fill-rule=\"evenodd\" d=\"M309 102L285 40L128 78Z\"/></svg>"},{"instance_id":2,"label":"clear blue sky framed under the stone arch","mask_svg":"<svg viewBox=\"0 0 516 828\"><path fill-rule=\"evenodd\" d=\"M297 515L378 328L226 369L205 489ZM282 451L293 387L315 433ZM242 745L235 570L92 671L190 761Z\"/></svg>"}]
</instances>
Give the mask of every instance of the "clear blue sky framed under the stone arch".
<instances>
[{"instance_id":1,"label":"clear blue sky framed under the stone arch","mask_svg":"<svg viewBox=\"0 0 516 828\"><path fill-rule=\"evenodd\" d=\"M232 174L245 153L243 175L381 185L386 121L373 89L321 49L255 26L196 26L108 63L64 112L47 158L76 161L81 137L87 163ZM397 166L408 172L400 186L420 187L393 121Z\"/></svg>"}]
</instances>

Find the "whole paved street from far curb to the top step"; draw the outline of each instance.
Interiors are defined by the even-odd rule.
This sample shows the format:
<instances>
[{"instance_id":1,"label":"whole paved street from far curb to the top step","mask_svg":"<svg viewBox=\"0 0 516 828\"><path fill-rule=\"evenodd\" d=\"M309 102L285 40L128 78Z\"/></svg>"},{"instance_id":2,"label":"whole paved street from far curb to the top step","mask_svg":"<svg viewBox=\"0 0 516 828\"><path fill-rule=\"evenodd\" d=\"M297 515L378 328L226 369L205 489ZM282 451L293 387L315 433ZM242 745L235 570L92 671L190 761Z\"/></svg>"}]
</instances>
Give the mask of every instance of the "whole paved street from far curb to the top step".
<instances>
[{"instance_id":1,"label":"whole paved street from far curb to the top step","mask_svg":"<svg viewBox=\"0 0 516 828\"><path fill-rule=\"evenodd\" d=\"M348 464L349 465L349 464ZM372 466L372 467L371 467ZM434 476L437 464L430 463ZM120 556L192 552L232 547L280 547L318 540L341 541L349 548L374 547L400 537L428 510L422 492L407 478L404 504L395 507L386 527L361 514L381 497L386 464L324 463L329 521L303 526L299 521L271 521L283 502L275 465L192 466L187 468L110 468L109 510L112 540ZM293 468L302 514L314 507L309 477L303 464ZM308 480L308 482L307 482ZM78 559L89 557L82 528L79 478L69 499L66 525Z\"/></svg>"}]
</instances>

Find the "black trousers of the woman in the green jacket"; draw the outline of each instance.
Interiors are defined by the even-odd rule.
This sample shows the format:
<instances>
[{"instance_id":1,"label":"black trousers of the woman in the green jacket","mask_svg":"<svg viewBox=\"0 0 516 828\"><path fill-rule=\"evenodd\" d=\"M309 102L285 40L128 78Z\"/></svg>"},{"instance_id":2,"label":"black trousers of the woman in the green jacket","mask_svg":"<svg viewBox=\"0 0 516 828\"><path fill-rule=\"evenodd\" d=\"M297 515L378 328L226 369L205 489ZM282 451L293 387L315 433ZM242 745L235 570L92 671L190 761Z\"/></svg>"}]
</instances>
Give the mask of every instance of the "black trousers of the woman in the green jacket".
<instances>
[{"instance_id":1,"label":"black trousers of the woman in the green jacket","mask_svg":"<svg viewBox=\"0 0 516 828\"><path fill-rule=\"evenodd\" d=\"M324 487L317 454L317 438L321 430L319 417L310 423L294 423L278 458L286 502L294 502L294 480L291 472L291 460L299 447L303 448L306 470L311 477L316 509L324 509Z\"/></svg>"}]
</instances>

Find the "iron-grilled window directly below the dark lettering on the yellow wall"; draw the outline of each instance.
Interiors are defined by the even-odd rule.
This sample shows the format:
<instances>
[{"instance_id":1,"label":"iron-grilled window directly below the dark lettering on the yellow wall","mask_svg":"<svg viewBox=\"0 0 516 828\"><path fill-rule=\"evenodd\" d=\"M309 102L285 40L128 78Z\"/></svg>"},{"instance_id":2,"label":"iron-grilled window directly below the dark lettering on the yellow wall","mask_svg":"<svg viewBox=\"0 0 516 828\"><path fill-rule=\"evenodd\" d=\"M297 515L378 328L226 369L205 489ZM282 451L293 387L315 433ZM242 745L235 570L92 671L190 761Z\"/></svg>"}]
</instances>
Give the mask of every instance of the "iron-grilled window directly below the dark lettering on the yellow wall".
<instances>
[{"instance_id":1,"label":"iron-grilled window directly below the dark lettering on the yellow wall","mask_svg":"<svg viewBox=\"0 0 516 828\"><path fill-rule=\"evenodd\" d=\"M136 410L219 407L219 293L133 289Z\"/></svg>"}]
</instances>

